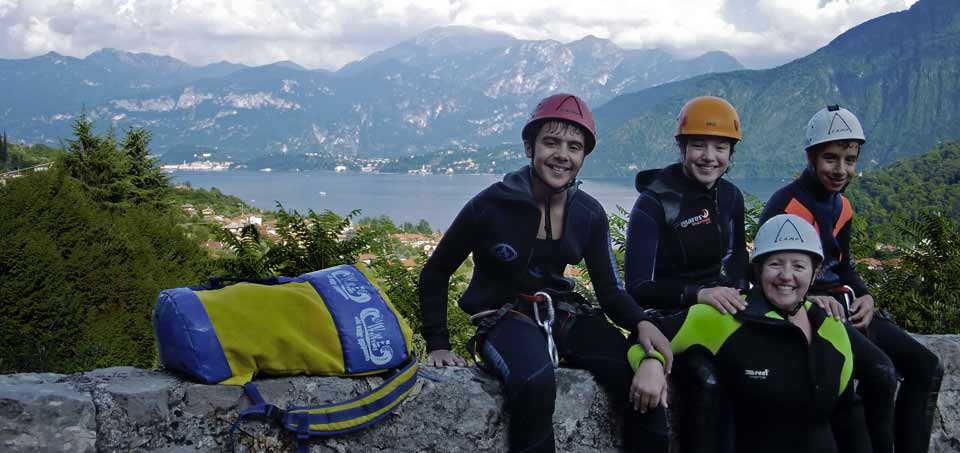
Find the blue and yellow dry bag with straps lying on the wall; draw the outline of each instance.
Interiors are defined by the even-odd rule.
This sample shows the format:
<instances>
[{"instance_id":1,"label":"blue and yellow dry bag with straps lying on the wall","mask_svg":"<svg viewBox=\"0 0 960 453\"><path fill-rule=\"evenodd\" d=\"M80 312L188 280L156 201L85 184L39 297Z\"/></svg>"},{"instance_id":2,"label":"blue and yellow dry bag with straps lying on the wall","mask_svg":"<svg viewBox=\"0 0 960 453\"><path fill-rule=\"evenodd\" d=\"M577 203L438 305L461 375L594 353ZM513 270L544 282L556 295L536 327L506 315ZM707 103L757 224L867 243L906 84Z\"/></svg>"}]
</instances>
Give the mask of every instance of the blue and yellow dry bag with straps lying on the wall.
<instances>
[{"instance_id":1,"label":"blue and yellow dry bag with straps lying on the wall","mask_svg":"<svg viewBox=\"0 0 960 453\"><path fill-rule=\"evenodd\" d=\"M301 441L369 426L417 379L410 327L362 266L169 289L153 322L165 368L206 384L243 385L254 405L238 422L264 416ZM250 382L254 375L380 373L390 373L383 384L350 401L286 410L266 403Z\"/></svg>"}]
</instances>

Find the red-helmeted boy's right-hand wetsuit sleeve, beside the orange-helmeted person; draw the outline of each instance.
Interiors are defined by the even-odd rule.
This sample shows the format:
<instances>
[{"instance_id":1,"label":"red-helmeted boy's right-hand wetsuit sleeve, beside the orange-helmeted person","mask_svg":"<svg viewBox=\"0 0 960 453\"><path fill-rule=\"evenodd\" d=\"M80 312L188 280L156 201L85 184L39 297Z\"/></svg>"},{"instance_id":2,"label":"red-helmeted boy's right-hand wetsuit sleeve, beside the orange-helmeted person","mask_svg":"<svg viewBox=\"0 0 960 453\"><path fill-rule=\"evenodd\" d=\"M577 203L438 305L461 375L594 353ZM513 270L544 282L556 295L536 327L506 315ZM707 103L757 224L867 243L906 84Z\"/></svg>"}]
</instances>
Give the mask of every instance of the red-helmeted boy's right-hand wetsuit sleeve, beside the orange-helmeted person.
<instances>
[{"instance_id":1,"label":"red-helmeted boy's right-hand wetsuit sleeve, beside the orange-helmeted person","mask_svg":"<svg viewBox=\"0 0 960 453\"><path fill-rule=\"evenodd\" d=\"M634 332L640 321L648 321L650 317L624 289L617 271L613 246L610 243L607 214L603 209L597 211L593 216L589 243L583 255L587 263L587 272L590 273L590 282L593 284L600 307L607 316L621 328Z\"/></svg>"}]
</instances>

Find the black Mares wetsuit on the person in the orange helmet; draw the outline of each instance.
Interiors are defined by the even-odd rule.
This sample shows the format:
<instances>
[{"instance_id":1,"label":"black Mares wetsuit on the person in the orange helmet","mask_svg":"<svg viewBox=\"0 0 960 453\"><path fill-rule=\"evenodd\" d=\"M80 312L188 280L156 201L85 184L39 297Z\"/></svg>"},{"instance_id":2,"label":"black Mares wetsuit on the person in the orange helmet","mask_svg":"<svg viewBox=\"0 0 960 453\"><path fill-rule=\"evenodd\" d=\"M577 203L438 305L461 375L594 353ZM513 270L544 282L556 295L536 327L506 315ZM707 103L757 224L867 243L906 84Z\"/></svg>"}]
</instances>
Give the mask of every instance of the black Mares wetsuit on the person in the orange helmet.
<instances>
[{"instance_id":1,"label":"black Mares wetsuit on the person in the orange helmet","mask_svg":"<svg viewBox=\"0 0 960 453\"><path fill-rule=\"evenodd\" d=\"M743 194L724 179L707 189L680 164L640 172L627 228L627 289L637 303L674 313L697 303L701 288L744 290L747 252ZM728 402L710 357L697 352L677 360L671 384L678 439L684 451L731 451Z\"/></svg>"}]
</instances>

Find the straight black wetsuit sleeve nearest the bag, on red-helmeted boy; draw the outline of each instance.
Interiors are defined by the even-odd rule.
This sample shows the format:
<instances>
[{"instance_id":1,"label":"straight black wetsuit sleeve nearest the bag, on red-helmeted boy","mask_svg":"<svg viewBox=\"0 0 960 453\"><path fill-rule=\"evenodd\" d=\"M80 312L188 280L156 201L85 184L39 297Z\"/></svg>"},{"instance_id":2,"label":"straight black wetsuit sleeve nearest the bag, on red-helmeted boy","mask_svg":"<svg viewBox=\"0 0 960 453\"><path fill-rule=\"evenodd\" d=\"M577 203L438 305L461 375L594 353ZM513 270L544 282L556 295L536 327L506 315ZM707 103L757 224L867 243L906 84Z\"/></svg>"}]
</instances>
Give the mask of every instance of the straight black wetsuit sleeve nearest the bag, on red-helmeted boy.
<instances>
[{"instance_id":1,"label":"straight black wetsuit sleeve nearest the bag, on red-helmeted boy","mask_svg":"<svg viewBox=\"0 0 960 453\"><path fill-rule=\"evenodd\" d=\"M475 232L475 199L464 205L420 271L420 319L427 351L450 349L447 298L450 276L467 258Z\"/></svg>"}]
</instances>

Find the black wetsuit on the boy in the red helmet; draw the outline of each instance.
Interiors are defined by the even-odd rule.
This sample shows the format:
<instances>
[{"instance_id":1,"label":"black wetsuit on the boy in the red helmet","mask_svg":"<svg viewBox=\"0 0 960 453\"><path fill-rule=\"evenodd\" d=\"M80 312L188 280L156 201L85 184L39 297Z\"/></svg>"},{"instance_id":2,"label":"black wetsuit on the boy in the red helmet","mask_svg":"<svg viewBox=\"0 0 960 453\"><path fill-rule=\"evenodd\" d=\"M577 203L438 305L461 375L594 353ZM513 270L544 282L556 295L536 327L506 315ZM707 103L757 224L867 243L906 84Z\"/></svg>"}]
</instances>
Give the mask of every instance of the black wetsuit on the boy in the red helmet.
<instances>
[{"instance_id":1,"label":"black wetsuit on the boy in the red helmet","mask_svg":"<svg viewBox=\"0 0 960 453\"><path fill-rule=\"evenodd\" d=\"M518 304L520 294L540 285L561 294L569 292L572 284L563 277L563 270L585 260L607 316L631 332L648 319L617 274L603 207L576 187L567 190L566 197L562 237L550 242L536 238L541 214L533 197L530 167L507 174L467 202L420 274L420 310L428 350L450 348L447 286L471 253L473 276L459 301L469 314ZM558 321L562 317L572 324L554 327L560 356L570 366L591 371L621 406L629 449L666 452L662 408L640 414L627 404L633 378L626 361L627 339L602 316L568 315L558 313ZM504 383L511 450L553 451L556 383L543 333L528 317L508 315L485 334L479 350L488 369Z\"/></svg>"}]
</instances>

